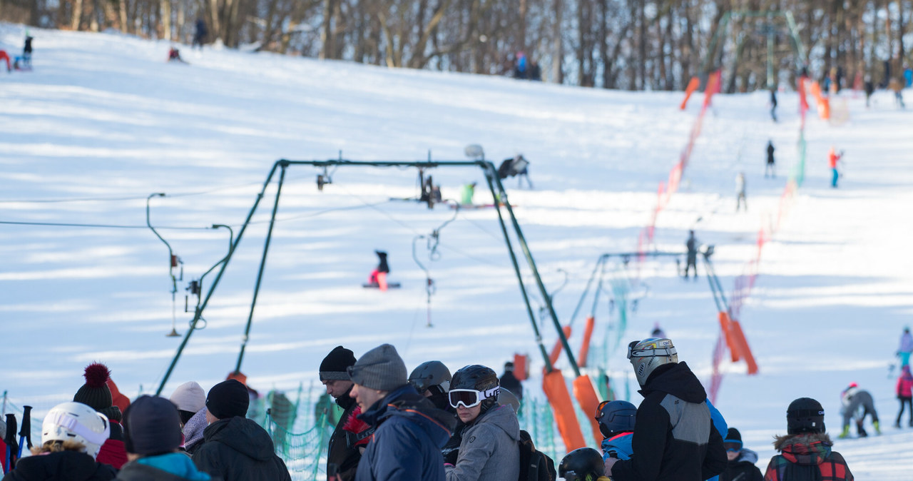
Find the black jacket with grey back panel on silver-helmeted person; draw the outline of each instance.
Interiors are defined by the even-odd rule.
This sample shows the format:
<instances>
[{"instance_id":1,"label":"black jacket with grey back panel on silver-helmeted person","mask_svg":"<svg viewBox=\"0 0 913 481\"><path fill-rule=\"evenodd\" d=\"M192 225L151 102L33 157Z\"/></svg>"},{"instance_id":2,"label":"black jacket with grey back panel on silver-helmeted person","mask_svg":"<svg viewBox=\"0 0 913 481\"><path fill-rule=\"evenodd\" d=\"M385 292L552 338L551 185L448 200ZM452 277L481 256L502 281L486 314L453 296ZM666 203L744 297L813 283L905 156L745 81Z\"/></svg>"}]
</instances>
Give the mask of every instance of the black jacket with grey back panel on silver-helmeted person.
<instances>
[{"instance_id":1,"label":"black jacket with grey back panel on silver-helmeted person","mask_svg":"<svg viewBox=\"0 0 913 481\"><path fill-rule=\"evenodd\" d=\"M640 390L634 455L612 467L614 481L699 481L726 469L707 392L685 362L656 368Z\"/></svg>"}]
</instances>

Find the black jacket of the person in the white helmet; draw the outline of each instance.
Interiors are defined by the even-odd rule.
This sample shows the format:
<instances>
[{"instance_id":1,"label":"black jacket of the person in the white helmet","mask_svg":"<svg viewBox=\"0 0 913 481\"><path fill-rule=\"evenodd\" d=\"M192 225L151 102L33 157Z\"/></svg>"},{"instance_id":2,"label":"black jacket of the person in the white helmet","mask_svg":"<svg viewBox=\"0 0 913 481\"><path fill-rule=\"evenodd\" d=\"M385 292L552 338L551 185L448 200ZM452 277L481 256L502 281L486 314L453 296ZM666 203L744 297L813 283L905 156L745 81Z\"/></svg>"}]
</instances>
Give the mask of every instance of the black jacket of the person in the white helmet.
<instances>
[{"instance_id":1,"label":"black jacket of the person in the white helmet","mask_svg":"<svg viewBox=\"0 0 913 481\"><path fill-rule=\"evenodd\" d=\"M117 472L113 467L96 462L90 455L59 451L20 459L16 469L6 473L3 481L109 481L114 476Z\"/></svg>"}]
</instances>

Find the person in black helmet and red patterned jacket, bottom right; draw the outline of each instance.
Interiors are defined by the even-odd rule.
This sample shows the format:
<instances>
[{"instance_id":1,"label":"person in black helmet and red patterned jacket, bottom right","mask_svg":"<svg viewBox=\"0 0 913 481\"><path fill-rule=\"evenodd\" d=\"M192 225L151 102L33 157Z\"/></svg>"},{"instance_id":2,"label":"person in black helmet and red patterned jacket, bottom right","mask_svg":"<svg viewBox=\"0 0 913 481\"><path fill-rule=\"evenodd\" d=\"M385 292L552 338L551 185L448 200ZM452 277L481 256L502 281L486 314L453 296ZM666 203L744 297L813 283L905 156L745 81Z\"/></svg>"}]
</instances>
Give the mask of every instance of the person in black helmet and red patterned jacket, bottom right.
<instances>
[{"instance_id":1,"label":"person in black helmet and red patterned jacket, bottom right","mask_svg":"<svg viewBox=\"0 0 913 481\"><path fill-rule=\"evenodd\" d=\"M799 398L786 410L787 434L777 436L765 481L853 481L844 456L831 451L831 438L824 433L824 408L812 398Z\"/></svg>"}]
</instances>

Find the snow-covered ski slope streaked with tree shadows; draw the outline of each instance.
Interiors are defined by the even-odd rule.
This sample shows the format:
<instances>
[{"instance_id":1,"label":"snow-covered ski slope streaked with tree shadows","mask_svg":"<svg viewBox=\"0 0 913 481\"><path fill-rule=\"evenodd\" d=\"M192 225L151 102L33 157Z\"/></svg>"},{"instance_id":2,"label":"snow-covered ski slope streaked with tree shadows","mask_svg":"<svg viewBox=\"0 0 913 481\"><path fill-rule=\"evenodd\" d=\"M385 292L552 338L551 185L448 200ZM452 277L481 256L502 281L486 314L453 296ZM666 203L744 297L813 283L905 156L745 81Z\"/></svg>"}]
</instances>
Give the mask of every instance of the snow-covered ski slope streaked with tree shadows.
<instances>
[{"instance_id":1,"label":"snow-covered ski slope streaked with tree shadows","mask_svg":"<svg viewBox=\"0 0 913 481\"><path fill-rule=\"evenodd\" d=\"M24 34L21 26L0 26L0 47L15 55ZM677 162L702 101L698 94L682 111L679 92L209 48L182 47L184 65L165 62L165 42L31 35L34 71L0 75L0 221L132 227L0 225L0 380L11 402L36 406L38 416L72 399L91 361L107 363L130 396L156 390L182 339L164 336L173 306L184 334L192 318L184 288L226 256L228 231L206 227L230 225L237 235L278 159L465 160L464 147L478 143L497 165L522 152L535 188L520 190L516 179L505 185L546 286L559 288L567 273L554 297L566 323L596 258L636 249L657 184ZM689 229L716 246L727 292L755 256L761 226L775 222L798 160L798 96L781 93L779 123L771 122L767 101L763 92L713 99L682 187L657 218L658 250L683 250ZM913 428L892 427L897 369L888 366L897 363L897 340L913 314L913 120L884 91L870 109L848 90L832 101L846 106L849 119L832 125L810 112L805 183L764 246L757 285L741 309L761 372L749 376L744 363L725 362L716 405L763 468L793 399L819 400L835 437L839 393L858 382L876 398L882 435L839 440L834 449L857 479L909 479ZM769 139L777 148L773 179L763 176ZM832 145L845 151L837 189L826 160ZM737 214L740 172L750 210ZM535 373L542 360L495 211L391 201L417 195L415 169L341 167L322 192L319 173L292 165L286 174L242 364L250 385L294 391L303 383L316 391L320 360L334 346L357 356L390 342L410 369L437 359L451 371L471 363L500 371L514 352L528 352L534 379L526 389L541 396ZM491 202L477 168L430 173L446 198L477 182L477 203ZM275 192L276 177L165 394L191 380L208 389L235 369ZM146 227L152 193L166 194L150 200L152 225L184 263L174 303L168 249ZM425 272L413 244L455 214L440 230L434 259L426 238L415 242L436 287L429 328ZM374 249L390 253L390 280L402 288L361 287L376 264ZM523 266L536 311L542 296ZM637 275L614 261L607 271ZM205 277L204 294L214 278ZM641 399L624 344L656 323L708 385L719 324L706 279L683 281L667 259L645 261L639 278L642 298L618 350L617 332L605 334L618 326L607 291L596 311L593 343L612 340L601 363L616 392ZM189 302L193 310L195 298ZM577 349L582 319L575 323ZM540 329L551 349L551 320ZM571 375L565 358L559 367Z\"/></svg>"}]
</instances>

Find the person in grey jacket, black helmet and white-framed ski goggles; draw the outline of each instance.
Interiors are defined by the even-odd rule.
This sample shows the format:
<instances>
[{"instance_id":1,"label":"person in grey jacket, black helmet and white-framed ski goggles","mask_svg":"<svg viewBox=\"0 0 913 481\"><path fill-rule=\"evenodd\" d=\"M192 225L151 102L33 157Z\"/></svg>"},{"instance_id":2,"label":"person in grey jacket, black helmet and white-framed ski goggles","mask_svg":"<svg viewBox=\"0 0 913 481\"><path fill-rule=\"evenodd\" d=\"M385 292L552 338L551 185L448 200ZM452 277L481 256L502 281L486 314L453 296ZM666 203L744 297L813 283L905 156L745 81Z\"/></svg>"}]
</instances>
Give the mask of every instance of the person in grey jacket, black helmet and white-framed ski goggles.
<instances>
[{"instance_id":1,"label":"person in grey jacket, black helmet and white-framed ski goggles","mask_svg":"<svg viewBox=\"0 0 913 481\"><path fill-rule=\"evenodd\" d=\"M510 404L498 404L498 374L470 365L454 373L447 392L466 425L456 464L446 464L447 481L503 481L519 477L519 422Z\"/></svg>"}]
</instances>

